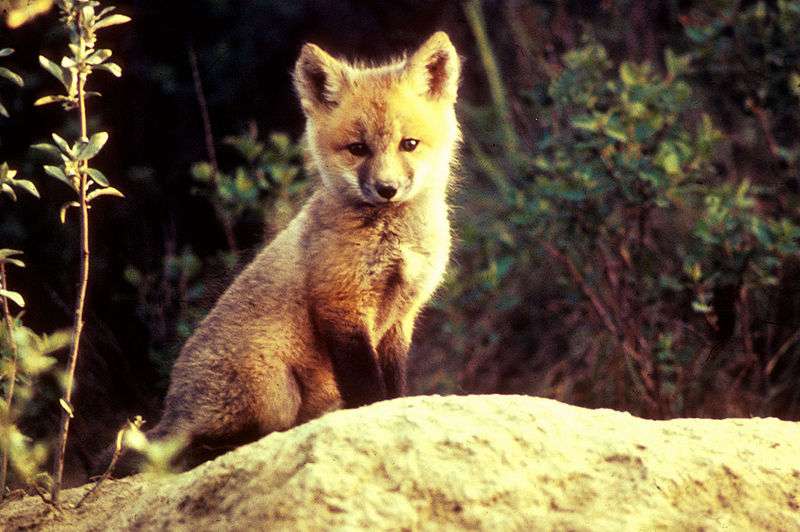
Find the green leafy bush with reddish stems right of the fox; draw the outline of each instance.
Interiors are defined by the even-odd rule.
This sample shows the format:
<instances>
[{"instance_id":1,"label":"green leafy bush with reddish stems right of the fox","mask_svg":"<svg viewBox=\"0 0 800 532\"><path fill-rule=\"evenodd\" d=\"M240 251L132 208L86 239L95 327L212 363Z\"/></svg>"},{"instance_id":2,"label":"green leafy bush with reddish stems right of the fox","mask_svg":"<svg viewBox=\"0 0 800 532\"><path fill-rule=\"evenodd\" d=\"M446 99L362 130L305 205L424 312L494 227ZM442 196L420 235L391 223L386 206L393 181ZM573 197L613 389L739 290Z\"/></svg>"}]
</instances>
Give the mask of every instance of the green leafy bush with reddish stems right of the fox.
<instances>
[{"instance_id":1,"label":"green leafy bush with reddish stems right of the fox","mask_svg":"<svg viewBox=\"0 0 800 532\"><path fill-rule=\"evenodd\" d=\"M800 228L770 208L774 190L718 163L726 136L699 113L693 60L666 50L662 75L597 42L566 52L546 90L514 104L535 113L530 151L497 149L502 111L467 109L467 168L499 193L469 196L487 210L464 222L473 262L449 290L474 313L447 315L475 339L472 375L655 417L714 412L704 404L731 390L718 412L769 410L757 398L778 349L761 324ZM525 333L542 321L554 330Z\"/></svg>"}]
</instances>

